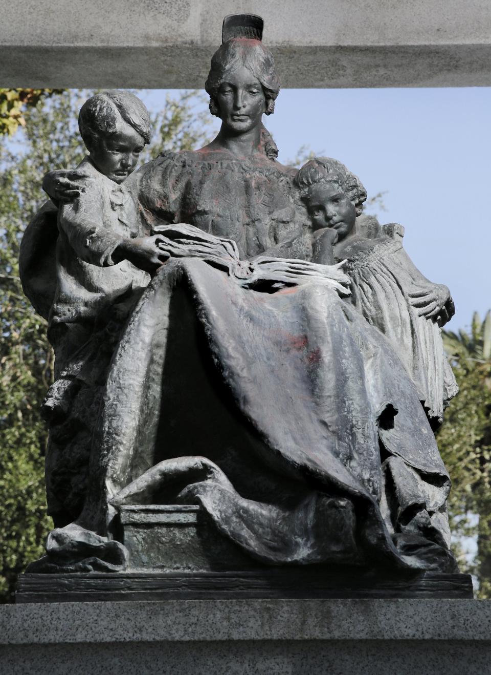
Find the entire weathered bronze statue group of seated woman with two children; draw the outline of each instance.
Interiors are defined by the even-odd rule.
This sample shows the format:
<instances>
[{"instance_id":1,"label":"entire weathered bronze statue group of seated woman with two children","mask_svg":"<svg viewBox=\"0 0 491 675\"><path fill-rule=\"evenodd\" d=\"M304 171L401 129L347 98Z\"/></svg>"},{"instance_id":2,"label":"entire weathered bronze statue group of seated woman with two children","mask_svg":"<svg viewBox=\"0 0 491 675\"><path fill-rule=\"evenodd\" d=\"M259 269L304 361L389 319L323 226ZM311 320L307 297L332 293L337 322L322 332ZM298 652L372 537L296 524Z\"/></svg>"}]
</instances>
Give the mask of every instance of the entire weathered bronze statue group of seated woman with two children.
<instances>
[{"instance_id":1,"label":"entire weathered bronze statue group of seated woman with two children","mask_svg":"<svg viewBox=\"0 0 491 675\"><path fill-rule=\"evenodd\" d=\"M449 290L344 165L277 161L261 26L225 21L210 144L132 173L148 113L104 92L88 157L45 178L21 269L56 354L55 529L31 573L458 572L432 431L457 391Z\"/></svg>"}]
</instances>

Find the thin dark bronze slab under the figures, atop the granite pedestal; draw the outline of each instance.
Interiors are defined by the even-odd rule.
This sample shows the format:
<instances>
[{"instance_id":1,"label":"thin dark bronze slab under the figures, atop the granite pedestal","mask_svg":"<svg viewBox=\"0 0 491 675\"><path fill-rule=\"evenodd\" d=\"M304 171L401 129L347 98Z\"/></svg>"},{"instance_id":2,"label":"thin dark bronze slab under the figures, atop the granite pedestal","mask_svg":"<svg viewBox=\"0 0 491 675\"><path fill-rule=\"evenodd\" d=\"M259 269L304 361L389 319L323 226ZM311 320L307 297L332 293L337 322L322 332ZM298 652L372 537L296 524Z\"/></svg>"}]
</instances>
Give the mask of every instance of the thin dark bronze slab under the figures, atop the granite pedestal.
<instances>
[{"instance_id":1,"label":"thin dark bronze slab under the figures, atop the granite pedestal","mask_svg":"<svg viewBox=\"0 0 491 675\"><path fill-rule=\"evenodd\" d=\"M16 602L471 597L469 574L355 576L332 567L305 566L243 572L21 574Z\"/></svg>"}]
</instances>

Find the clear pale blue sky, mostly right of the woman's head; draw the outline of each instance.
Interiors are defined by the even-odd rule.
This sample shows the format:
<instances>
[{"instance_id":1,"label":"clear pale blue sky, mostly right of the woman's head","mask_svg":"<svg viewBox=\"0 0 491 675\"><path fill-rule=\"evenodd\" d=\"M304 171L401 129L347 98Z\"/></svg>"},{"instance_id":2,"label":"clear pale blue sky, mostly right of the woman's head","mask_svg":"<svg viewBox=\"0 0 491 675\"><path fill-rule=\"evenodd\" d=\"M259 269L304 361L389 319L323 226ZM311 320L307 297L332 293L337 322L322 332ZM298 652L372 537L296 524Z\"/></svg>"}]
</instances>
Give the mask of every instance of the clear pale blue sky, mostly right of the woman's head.
<instances>
[{"instance_id":1,"label":"clear pale blue sky, mostly right of the woman's head","mask_svg":"<svg viewBox=\"0 0 491 675\"><path fill-rule=\"evenodd\" d=\"M166 90L140 93L153 110ZM177 92L172 92L177 93ZM264 121L287 161L307 145L384 191L382 222L405 227L405 248L451 289L466 327L491 307L491 88L284 89Z\"/></svg>"}]
</instances>

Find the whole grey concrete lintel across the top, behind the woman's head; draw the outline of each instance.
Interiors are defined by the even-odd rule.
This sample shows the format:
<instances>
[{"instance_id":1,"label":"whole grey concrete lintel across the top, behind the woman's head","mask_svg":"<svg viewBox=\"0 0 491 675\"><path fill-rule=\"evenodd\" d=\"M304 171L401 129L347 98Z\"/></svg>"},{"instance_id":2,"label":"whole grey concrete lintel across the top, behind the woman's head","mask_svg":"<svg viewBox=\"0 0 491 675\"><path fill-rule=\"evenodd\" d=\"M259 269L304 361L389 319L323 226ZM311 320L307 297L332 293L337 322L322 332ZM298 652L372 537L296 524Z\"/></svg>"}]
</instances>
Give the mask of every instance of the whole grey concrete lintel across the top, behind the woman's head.
<instances>
[{"instance_id":1,"label":"whole grey concrete lintel across the top, behind the woman's head","mask_svg":"<svg viewBox=\"0 0 491 675\"><path fill-rule=\"evenodd\" d=\"M491 85L488 0L0 0L0 86L202 88L233 11L283 86Z\"/></svg>"}]
</instances>

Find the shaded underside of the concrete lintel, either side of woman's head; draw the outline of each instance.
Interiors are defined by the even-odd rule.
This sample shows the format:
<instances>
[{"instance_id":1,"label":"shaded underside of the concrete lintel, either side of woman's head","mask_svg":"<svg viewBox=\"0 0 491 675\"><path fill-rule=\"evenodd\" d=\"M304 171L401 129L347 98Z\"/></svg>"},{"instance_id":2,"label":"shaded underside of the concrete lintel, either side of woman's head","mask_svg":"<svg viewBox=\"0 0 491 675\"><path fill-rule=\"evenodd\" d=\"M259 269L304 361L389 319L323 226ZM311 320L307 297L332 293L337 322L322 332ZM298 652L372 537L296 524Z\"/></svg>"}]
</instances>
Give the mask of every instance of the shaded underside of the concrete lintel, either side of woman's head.
<instances>
[{"instance_id":1,"label":"shaded underside of the concrete lintel, either side of woman's head","mask_svg":"<svg viewBox=\"0 0 491 675\"><path fill-rule=\"evenodd\" d=\"M204 87L213 47L1 47L1 86ZM273 47L284 87L491 86L491 45Z\"/></svg>"}]
</instances>

